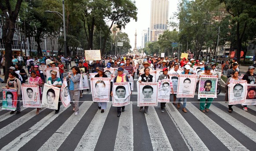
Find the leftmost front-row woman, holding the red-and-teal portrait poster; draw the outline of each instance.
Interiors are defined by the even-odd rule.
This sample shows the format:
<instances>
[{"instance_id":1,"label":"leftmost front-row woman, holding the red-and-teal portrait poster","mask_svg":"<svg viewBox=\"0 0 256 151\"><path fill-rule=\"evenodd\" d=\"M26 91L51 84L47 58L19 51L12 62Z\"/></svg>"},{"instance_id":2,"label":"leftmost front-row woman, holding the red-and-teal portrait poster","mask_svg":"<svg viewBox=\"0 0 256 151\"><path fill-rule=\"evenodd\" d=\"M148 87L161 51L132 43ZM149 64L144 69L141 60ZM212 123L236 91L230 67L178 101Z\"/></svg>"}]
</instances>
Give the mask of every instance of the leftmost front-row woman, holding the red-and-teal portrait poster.
<instances>
[{"instance_id":1,"label":"leftmost front-row woman, holding the red-and-teal portrait poster","mask_svg":"<svg viewBox=\"0 0 256 151\"><path fill-rule=\"evenodd\" d=\"M17 99L17 106L15 111L11 111L10 114L13 114L16 112L16 114L19 114L21 109L21 102L20 102L20 95L21 95L21 81L18 79L18 74L16 74L14 71L11 71L9 73L9 78L7 79L7 83L5 86L7 89L9 88L17 88L17 94L18 94L18 99Z\"/></svg>"}]
</instances>

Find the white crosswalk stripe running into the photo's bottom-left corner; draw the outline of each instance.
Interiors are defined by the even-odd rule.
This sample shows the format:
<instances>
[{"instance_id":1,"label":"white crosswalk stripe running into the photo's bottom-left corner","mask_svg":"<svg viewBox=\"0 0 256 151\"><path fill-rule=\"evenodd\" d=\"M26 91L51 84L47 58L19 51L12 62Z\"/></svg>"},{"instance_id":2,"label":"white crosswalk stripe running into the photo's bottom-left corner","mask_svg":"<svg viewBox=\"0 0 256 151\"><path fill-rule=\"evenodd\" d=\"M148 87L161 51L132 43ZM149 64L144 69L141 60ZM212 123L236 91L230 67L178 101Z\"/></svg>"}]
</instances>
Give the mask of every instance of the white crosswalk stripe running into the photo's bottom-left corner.
<instances>
[{"instance_id":1,"label":"white crosswalk stripe running into the photo's bottom-left corner","mask_svg":"<svg viewBox=\"0 0 256 151\"><path fill-rule=\"evenodd\" d=\"M67 108L61 108L59 110L59 114L64 112L66 109ZM42 111L42 110L40 110L40 111ZM58 117L59 114L54 114L54 112L51 112L50 114L45 116L43 119L41 119L39 122L37 122L35 125L28 128L28 131L26 131L25 133L22 133L20 136L16 137L15 140L11 141L9 144L7 144L5 147L3 147L1 150L3 150L3 151L18 151L19 148L24 146L29 140L31 140L33 137L35 137L38 133L40 133L41 130L43 130L46 126L48 126L49 123L51 123L56 117Z\"/></svg>"}]
</instances>

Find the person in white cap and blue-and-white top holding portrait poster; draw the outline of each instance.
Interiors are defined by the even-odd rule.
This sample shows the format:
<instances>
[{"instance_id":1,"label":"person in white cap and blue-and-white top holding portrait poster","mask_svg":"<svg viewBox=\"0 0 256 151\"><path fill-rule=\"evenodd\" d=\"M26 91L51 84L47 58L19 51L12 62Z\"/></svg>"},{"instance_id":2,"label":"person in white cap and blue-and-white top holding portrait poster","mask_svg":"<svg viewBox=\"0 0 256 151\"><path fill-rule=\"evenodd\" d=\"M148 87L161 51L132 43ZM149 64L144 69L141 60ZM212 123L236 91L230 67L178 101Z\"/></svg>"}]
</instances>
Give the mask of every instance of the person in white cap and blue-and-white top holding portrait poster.
<instances>
[{"instance_id":1,"label":"person in white cap and blue-and-white top holding portrait poster","mask_svg":"<svg viewBox=\"0 0 256 151\"><path fill-rule=\"evenodd\" d=\"M55 87L61 88L62 81L59 77L57 77L57 71L51 70L50 74L51 74L51 77L48 78L47 84L50 84L50 85L53 85ZM59 98L58 109L55 109L55 114L59 113L60 102L61 102L61 100Z\"/></svg>"}]
</instances>

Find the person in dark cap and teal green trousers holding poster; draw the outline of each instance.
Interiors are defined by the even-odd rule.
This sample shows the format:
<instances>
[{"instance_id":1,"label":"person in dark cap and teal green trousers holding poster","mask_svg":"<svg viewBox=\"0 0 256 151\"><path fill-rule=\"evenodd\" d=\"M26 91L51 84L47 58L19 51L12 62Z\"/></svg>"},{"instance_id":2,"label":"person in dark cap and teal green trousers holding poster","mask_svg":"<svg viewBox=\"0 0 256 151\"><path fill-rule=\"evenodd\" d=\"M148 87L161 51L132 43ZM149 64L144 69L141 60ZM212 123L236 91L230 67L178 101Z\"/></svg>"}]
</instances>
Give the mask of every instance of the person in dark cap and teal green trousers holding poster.
<instances>
[{"instance_id":1,"label":"person in dark cap and teal green trousers holding poster","mask_svg":"<svg viewBox=\"0 0 256 151\"><path fill-rule=\"evenodd\" d=\"M205 72L201 75L212 75L211 73L211 66L205 66ZM201 77L201 76L200 76ZM210 105L212 104L213 98L200 98L200 111L201 112L209 112ZM205 105L206 102L206 105Z\"/></svg>"}]
</instances>

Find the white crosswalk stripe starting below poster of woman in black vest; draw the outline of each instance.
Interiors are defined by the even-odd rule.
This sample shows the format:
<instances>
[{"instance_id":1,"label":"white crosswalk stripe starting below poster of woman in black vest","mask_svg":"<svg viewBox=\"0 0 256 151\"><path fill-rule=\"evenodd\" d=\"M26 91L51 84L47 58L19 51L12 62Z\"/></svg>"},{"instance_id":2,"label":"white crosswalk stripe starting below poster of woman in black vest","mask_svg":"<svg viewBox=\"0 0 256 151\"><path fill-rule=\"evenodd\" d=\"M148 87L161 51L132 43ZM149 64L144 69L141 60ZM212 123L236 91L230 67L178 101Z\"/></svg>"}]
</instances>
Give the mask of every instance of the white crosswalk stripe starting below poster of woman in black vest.
<instances>
[{"instance_id":1,"label":"white crosswalk stripe starting below poster of woman in black vest","mask_svg":"<svg viewBox=\"0 0 256 151\"><path fill-rule=\"evenodd\" d=\"M173 151L160 119L157 116L156 110L153 106L149 106L148 111L149 115L145 115L145 117L154 151L157 151L160 148L162 151Z\"/></svg>"}]
</instances>

